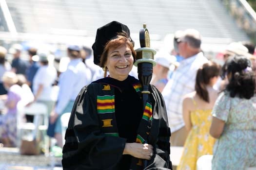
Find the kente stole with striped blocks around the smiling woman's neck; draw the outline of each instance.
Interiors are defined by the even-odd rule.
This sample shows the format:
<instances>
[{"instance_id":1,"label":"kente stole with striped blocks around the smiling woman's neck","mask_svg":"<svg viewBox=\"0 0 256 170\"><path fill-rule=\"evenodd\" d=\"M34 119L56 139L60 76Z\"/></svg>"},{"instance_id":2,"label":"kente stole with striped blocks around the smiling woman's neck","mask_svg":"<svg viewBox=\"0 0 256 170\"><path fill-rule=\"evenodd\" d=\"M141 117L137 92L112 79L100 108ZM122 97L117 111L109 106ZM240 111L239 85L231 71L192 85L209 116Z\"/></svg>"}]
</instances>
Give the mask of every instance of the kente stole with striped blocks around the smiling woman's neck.
<instances>
[{"instance_id":1,"label":"kente stole with striped blocks around the smiling woman's neck","mask_svg":"<svg viewBox=\"0 0 256 170\"><path fill-rule=\"evenodd\" d=\"M136 80L136 81L134 81ZM137 79L134 79L133 87L137 94L141 94L141 84ZM117 121L115 117L115 86L110 85L106 82L98 82L102 84L102 95L97 96L97 111L99 119L102 121L102 130L108 136L119 136ZM103 95L104 94L104 95ZM146 103L144 108L142 119L140 120L138 130L137 130L137 143L145 143L148 139L150 133L150 128L152 125L152 105L151 102ZM131 159L131 170L142 170L143 160L132 157Z\"/></svg>"}]
</instances>

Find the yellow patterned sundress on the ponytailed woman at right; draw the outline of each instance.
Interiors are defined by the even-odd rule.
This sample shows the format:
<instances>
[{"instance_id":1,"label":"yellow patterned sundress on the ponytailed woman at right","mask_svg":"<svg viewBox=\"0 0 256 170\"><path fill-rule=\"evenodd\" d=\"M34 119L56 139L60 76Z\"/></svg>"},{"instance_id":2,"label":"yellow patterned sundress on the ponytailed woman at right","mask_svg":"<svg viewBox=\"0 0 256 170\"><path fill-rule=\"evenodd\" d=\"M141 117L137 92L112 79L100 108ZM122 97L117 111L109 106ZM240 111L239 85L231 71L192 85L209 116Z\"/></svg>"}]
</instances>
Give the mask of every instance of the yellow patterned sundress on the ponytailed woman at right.
<instances>
[{"instance_id":1,"label":"yellow patterned sundress on the ponytailed woman at right","mask_svg":"<svg viewBox=\"0 0 256 170\"><path fill-rule=\"evenodd\" d=\"M195 101L193 102L195 103ZM215 139L209 134L212 121L211 112L212 109L198 109L191 112L192 129L186 139L177 170L196 170L197 159L200 156L213 154Z\"/></svg>"}]
</instances>

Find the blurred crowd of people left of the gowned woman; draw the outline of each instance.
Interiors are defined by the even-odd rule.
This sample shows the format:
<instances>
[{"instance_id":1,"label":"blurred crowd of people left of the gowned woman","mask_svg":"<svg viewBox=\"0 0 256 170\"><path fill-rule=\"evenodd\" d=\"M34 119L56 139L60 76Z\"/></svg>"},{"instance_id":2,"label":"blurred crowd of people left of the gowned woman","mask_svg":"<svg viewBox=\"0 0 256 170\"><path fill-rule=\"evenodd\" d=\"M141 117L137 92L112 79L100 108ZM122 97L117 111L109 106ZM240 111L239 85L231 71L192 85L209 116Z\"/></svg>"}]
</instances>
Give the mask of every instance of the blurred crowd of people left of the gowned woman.
<instances>
[{"instance_id":1,"label":"blurred crowd of people left of the gowned woman","mask_svg":"<svg viewBox=\"0 0 256 170\"><path fill-rule=\"evenodd\" d=\"M28 60L21 57L24 53ZM12 55L11 61L7 60L7 54ZM8 51L0 47L0 100L3 103L0 142L3 146L17 145L18 103L29 107L39 102L47 106L50 128L47 135L55 137L57 145L62 147L61 114L71 112L84 85L103 77L103 71L90 58L89 48L70 45L66 54L56 60L49 49L29 47L24 50L20 44L13 44ZM33 122L33 116L24 116L25 121Z\"/></svg>"}]
</instances>

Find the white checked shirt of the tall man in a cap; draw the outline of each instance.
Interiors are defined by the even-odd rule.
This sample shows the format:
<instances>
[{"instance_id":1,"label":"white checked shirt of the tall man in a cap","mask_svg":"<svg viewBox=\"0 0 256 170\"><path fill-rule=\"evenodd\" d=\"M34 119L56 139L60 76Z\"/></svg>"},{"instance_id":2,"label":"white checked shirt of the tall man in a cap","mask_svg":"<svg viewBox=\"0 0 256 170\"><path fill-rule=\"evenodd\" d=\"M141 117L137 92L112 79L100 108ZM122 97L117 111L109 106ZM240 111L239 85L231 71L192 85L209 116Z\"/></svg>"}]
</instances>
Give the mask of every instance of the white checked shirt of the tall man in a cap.
<instances>
[{"instance_id":1,"label":"white checked shirt of the tall man in a cap","mask_svg":"<svg viewBox=\"0 0 256 170\"><path fill-rule=\"evenodd\" d=\"M197 69L207 61L202 52L182 60L162 91L172 132L185 125L182 118L183 96L195 90Z\"/></svg>"}]
</instances>

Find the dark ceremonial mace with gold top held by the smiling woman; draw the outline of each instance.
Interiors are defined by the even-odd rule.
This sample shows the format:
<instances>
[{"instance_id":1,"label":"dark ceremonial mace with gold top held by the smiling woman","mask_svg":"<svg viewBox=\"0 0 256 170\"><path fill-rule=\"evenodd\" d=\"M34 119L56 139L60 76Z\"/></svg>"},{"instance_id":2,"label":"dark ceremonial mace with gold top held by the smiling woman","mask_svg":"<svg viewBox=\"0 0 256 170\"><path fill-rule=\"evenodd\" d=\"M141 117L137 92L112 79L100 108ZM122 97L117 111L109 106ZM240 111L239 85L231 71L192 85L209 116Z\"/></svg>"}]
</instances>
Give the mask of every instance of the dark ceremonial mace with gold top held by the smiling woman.
<instances>
[{"instance_id":1,"label":"dark ceremonial mace with gold top held by the smiling woman","mask_svg":"<svg viewBox=\"0 0 256 170\"><path fill-rule=\"evenodd\" d=\"M149 83L152 79L153 66L156 65L154 55L156 50L150 48L150 37L148 33L147 25L143 24L143 29L139 31L139 43L140 48L135 50L137 52L135 66L138 67L138 79L142 85L142 100L143 109L146 107L146 103L149 100ZM147 141L145 141L147 143ZM144 168L147 167L147 161L144 161Z\"/></svg>"}]
</instances>

